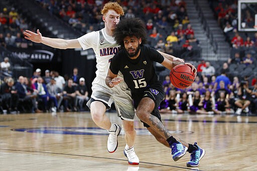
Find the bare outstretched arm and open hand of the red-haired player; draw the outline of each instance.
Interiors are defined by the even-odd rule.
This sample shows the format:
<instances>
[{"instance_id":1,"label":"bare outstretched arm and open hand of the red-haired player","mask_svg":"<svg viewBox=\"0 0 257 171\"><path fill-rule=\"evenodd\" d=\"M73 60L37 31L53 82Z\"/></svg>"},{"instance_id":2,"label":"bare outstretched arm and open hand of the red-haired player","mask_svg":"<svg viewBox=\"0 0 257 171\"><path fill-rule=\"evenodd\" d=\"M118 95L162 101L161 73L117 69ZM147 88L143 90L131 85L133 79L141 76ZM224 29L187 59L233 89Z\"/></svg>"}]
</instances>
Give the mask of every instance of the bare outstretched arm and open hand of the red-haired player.
<instances>
[{"instance_id":1,"label":"bare outstretched arm and open hand of the red-haired player","mask_svg":"<svg viewBox=\"0 0 257 171\"><path fill-rule=\"evenodd\" d=\"M37 30L37 33L26 30L24 32L25 39L30 40L35 43L42 43L44 45L50 46L52 48L57 49L73 49L73 48L81 48L77 39L64 40L58 38L48 38L43 37L42 34Z\"/></svg>"}]
</instances>

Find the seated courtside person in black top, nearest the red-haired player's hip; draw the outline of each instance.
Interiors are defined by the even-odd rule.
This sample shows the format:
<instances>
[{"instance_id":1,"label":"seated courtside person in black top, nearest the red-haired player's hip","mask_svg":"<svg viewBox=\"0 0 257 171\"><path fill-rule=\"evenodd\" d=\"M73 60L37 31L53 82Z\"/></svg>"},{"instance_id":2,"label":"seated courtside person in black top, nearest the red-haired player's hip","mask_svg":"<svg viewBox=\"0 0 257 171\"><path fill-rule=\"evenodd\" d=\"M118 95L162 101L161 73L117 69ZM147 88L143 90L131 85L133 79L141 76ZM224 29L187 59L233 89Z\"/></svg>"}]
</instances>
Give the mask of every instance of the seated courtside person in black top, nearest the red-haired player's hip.
<instances>
[{"instance_id":1,"label":"seated courtside person in black top, nearest the red-haired player's hip","mask_svg":"<svg viewBox=\"0 0 257 171\"><path fill-rule=\"evenodd\" d=\"M80 111L84 110L83 106L84 106L85 102L88 101L88 99L89 99L88 91L87 91L87 87L85 85L85 79L83 77L81 77L79 79L79 84L76 87L76 102L75 102L75 105L77 105L77 102L78 102Z\"/></svg>"}]
</instances>

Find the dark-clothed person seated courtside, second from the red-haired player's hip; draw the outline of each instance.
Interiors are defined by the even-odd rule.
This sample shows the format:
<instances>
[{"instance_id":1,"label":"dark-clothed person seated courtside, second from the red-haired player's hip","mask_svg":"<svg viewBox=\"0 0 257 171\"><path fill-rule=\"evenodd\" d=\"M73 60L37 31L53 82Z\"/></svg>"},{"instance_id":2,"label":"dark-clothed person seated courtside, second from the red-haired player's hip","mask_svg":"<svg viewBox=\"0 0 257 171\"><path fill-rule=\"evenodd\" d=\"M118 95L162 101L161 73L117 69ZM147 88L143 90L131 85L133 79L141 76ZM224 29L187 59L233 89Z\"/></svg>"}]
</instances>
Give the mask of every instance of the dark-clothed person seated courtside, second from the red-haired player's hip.
<instances>
[{"instance_id":1,"label":"dark-clothed person seated courtside, second from the red-haired player's hip","mask_svg":"<svg viewBox=\"0 0 257 171\"><path fill-rule=\"evenodd\" d=\"M64 111L77 111L75 98L76 87L73 85L73 80L70 78L68 84L63 89Z\"/></svg>"}]
</instances>

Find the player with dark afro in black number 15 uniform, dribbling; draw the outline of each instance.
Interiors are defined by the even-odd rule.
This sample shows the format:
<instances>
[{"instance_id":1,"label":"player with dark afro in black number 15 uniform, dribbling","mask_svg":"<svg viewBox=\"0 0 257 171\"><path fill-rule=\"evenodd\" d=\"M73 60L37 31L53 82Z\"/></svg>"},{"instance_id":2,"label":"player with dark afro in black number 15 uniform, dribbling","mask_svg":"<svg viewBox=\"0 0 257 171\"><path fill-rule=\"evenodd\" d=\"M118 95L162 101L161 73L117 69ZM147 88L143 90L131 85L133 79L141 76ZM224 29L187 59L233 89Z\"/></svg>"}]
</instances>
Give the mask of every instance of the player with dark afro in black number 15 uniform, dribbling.
<instances>
[{"instance_id":1,"label":"player with dark afro in black number 15 uniform, dribbling","mask_svg":"<svg viewBox=\"0 0 257 171\"><path fill-rule=\"evenodd\" d=\"M140 19L124 19L114 30L114 38L121 46L121 50L111 60L105 83L109 87L125 81L131 89L136 114L144 126L160 142L166 141L166 146L171 148L173 159L177 161L191 153L187 166L198 166L199 160L205 151L196 143L188 144L171 135L161 122L158 107L164 99L164 89L155 72L154 61L161 63L171 70L176 64L164 58L158 51L144 46L146 42L146 27ZM191 64L187 64L193 67ZM193 67L194 68L194 67ZM193 69L195 70L195 68ZM117 78L118 71L123 74L123 79Z\"/></svg>"}]
</instances>

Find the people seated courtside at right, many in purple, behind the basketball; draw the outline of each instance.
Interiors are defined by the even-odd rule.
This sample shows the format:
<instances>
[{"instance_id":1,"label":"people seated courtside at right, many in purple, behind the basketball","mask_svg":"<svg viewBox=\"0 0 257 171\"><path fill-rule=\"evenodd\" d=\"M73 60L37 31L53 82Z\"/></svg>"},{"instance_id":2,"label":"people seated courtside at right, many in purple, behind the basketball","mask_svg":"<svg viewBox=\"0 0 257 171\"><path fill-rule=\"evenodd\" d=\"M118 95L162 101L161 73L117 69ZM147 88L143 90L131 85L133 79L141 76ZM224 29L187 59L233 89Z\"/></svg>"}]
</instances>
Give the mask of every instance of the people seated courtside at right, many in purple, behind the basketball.
<instances>
[{"instance_id":1,"label":"people seated courtside at right, many in purple, behind the basketball","mask_svg":"<svg viewBox=\"0 0 257 171\"><path fill-rule=\"evenodd\" d=\"M247 65L246 63L243 65ZM249 64L250 65L250 64ZM257 109L256 76L231 75L223 63L218 71L201 61L194 83L186 89L175 88L167 75L163 81L166 97L161 112L193 114L254 114Z\"/></svg>"}]
</instances>

